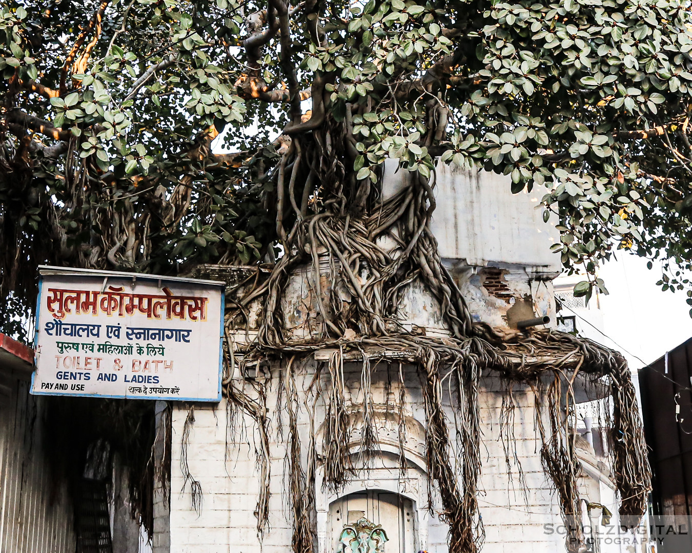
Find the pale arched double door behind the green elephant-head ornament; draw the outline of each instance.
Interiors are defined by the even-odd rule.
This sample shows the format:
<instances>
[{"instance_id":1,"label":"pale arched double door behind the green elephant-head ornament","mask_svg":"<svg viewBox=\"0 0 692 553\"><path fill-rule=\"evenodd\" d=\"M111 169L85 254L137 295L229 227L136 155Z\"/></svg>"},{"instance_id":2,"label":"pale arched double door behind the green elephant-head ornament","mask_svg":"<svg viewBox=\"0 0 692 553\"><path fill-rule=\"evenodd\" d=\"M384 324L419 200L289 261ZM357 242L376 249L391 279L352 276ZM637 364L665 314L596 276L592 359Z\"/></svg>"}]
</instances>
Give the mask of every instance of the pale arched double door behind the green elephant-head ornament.
<instances>
[{"instance_id":1,"label":"pale arched double door behind the green elephant-head ornament","mask_svg":"<svg viewBox=\"0 0 692 553\"><path fill-rule=\"evenodd\" d=\"M327 551L335 552L339 537L347 525L366 518L381 525L388 541L381 547L385 553L415 553L415 511L413 502L391 491L369 489L343 496L329 505ZM350 553L350 552L348 552Z\"/></svg>"}]
</instances>

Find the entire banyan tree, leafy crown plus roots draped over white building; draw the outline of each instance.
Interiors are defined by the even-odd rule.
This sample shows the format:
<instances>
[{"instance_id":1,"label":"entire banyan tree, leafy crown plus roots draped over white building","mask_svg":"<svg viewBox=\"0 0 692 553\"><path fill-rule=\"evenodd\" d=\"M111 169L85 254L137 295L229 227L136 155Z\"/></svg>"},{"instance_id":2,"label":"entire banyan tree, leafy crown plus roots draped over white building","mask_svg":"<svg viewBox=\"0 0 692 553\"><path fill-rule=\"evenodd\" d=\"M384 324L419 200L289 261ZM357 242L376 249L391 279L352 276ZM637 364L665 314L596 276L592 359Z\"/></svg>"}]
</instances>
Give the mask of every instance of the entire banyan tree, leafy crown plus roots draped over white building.
<instances>
[{"instance_id":1,"label":"entire banyan tree, leafy crown plus roots draped over white building","mask_svg":"<svg viewBox=\"0 0 692 553\"><path fill-rule=\"evenodd\" d=\"M345 363L361 364L363 458L376 440L372 367L386 361L402 394L410 381L392 367L417 375L421 462L450 551L482 538L482 375L501 379L508 404L515 385L536 395L540 458L567 522L580 509L574 383L604 386L620 514L638 517L650 478L623 357L476 320L431 221L447 166L502 174L515 194L540 191L560 233L552 250L585 274L576 295L606 293L597 269L617 248L664 259L662 286L686 289L690 24L689 6L668 0L6 2L3 324L21 333L32 316L41 263L177 275L242 266L227 293L224 394L252 421L260 534L270 427L287 440L296 553L313 547L318 473L340 489L359 470ZM397 168L406 178L388 191ZM298 333L286 312L295 279L309 312ZM412 291L435 306L440 332L407 326ZM306 364L314 381L298 386ZM233 377L247 367L268 377ZM278 429L268 396L283 405ZM325 418L299 432L308 397ZM399 436L404 404L393 403Z\"/></svg>"}]
</instances>

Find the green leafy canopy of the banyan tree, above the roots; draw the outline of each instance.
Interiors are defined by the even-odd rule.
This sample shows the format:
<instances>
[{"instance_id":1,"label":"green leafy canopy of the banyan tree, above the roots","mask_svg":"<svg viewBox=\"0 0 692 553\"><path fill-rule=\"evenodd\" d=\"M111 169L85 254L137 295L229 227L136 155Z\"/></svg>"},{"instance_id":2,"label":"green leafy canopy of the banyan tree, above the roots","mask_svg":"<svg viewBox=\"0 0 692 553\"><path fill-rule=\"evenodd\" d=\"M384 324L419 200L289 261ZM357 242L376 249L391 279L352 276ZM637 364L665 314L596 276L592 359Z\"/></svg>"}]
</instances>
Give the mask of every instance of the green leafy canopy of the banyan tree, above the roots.
<instances>
[{"instance_id":1,"label":"green leafy canopy of the banyan tree, above the roots","mask_svg":"<svg viewBox=\"0 0 692 553\"><path fill-rule=\"evenodd\" d=\"M4 2L0 317L39 263L271 261L325 209L367 218L385 158L421 183L385 218L415 206L407 254L454 163L545 188L577 294L616 247L684 288L691 21L678 0Z\"/></svg>"}]
</instances>

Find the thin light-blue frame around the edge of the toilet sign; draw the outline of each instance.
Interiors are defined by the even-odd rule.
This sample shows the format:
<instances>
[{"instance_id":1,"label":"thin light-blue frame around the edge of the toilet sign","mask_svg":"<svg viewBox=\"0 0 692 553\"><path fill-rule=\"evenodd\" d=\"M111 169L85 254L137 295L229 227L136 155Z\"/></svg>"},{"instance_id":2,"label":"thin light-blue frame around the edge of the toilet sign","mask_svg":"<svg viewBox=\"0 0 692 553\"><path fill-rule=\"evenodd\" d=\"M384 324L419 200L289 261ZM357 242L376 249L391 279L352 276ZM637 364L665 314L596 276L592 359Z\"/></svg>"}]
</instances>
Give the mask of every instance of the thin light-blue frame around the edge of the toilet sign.
<instances>
[{"instance_id":1,"label":"thin light-blue frame around the edge of the toilet sign","mask_svg":"<svg viewBox=\"0 0 692 553\"><path fill-rule=\"evenodd\" d=\"M31 373L31 386L29 388L29 393L31 395L57 395L62 397L95 397L95 398L107 398L107 399L117 399L117 400L160 400L160 401L179 401L179 402L206 402L206 403L218 403L221 401L221 382L224 377L224 312L226 308L226 283L223 281L208 281L201 279L190 279L185 277L166 277L158 274L147 274L147 273L135 273L135 272L119 272L119 271L102 271L95 269L79 269L79 268L69 268L69 267L55 267L52 265L39 265L39 290L36 298L36 315L35 315L35 327L34 327L34 370ZM41 301L43 297L43 285L44 277L46 276L62 276L62 277L103 277L103 287L106 285L109 278L127 280L131 279L132 283L136 283L138 280L143 281L155 281L158 283L159 288L161 288L161 283L166 282L177 282L177 283L187 283L187 284L197 284L205 286L218 286L221 288L221 301L220 301L220 328L219 328L219 372L218 372L218 386L217 386L217 397L179 397L179 396L164 396L164 395L108 395L100 393L56 393L55 391L41 391L35 389L35 377L38 371L38 356L41 355L39 352L39 313L41 309Z\"/></svg>"}]
</instances>

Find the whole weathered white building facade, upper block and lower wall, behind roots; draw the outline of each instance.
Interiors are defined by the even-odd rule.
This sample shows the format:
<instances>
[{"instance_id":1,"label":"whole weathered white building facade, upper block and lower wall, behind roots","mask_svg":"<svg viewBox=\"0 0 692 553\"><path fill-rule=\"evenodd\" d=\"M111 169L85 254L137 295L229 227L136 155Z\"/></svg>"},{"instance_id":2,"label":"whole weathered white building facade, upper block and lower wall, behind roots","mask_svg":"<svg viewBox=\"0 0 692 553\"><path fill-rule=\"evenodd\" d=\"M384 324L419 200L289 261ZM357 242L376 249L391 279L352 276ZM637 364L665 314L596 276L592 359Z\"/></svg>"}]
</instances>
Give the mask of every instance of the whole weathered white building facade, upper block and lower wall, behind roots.
<instances>
[{"instance_id":1,"label":"whole weathered white building facade, upper block and lower wall, behind roots","mask_svg":"<svg viewBox=\"0 0 692 553\"><path fill-rule=\"evenodd\" d=\"M397 190L399 178L404 177L392 175L385 182L385 193ZM511 195L506 178L500 176L448 167L437 171L438 207L432 232L439 242L440 256L457 280L473 318L499 331L511 331L518 321L535 317L547 316L549 325L556 324L552 280L561 268L559 257L549 252L549 246L559 238L552 221L543 223L539 198L540 191ZM237 272L242 276L241 270ZM235 280L240 280L238 274ZM306 271L299 268L289 279L283 306L286 327L295 335L310 329L314 310L308 288ZM404 326L412 332L444 337L439 306L423 290L412 287L400 311ZM252 320L248 329L232 330L230 349L251 341L253 331ZM340 538L345 526L366 519L384 530L386 553L446 553L448 527L437 516L439 497L428 482L426 409L415 366L385 354L344 360L343 396L351 435L345 440L348 443L340 445L349 449L356 474L343 489L322 485L325 444L321 437L327 406L316 391L331 386L324 367L332 353L329 348L318 350L291 367L295 388L300 391L296 428L302 443L313 435L316 440L316 551L343 550ZM267 379L281 382L288 362L284 359L228 377L235 378L238 386L256 391ZM369 363L368 371L363 370L364 362ZM363 382L365 374L370 382ZM363 394L368 389L364 410ZM255 419L226 400L218 405L172 407L170 493L157 499L154 553L291 551L293 514L286 470L290 442L286 434L288 413L282 407L285 394L285 385L266 391L266 442ZM564 550L559 500L541 465L534 394L520 385L513 386L513 408L508 408L507 383L493 373L482 375L479 394L482 551ZM595 397L585 393L580 400ZM453 421L455 412L450 402L445 409L448 420ZM361 449L363 418L375 429L375 447L365 452ZM402 420L406 427L403 438ZM455 442L453 433L450 426L451 442ZM258 453L264 443L268 443L266 467ZM583 438L578 448L583 503L606 505L617 516L617 498L605 456L603 451L599 456L592 443ZM303 449L306 465L308 454L309 450ZM270 492L268 527L258 532L257 505L264 482L268 482ZM592 516L599 513L592 509ZM620 549L613 545L601 550Z\"/></svg>"}]
</instances>

